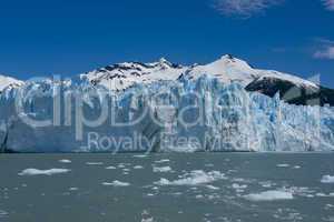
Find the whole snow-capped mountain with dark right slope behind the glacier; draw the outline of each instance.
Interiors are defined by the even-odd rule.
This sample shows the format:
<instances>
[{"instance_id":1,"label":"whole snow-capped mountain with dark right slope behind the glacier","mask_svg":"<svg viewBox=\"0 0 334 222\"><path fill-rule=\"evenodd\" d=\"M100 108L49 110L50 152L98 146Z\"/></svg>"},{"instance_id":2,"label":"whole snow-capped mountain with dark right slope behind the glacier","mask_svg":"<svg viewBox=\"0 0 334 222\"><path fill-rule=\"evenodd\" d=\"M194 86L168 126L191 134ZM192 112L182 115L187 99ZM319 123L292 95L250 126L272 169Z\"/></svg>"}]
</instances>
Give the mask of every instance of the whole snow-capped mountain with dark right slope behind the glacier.
<instances>
[{"instance_id":1,"label":"whole snow-capped mountain with dark right slope behind the glacier","mask_svg":"<svg viewBox=\"0 0 334 222\"><path fill-rule=\"evenodd\" d=\"M230 54L204 65L179 65L166 59L153 63L126 62L87 72L80 78L92 84L119 91L136 83L176 81L180 78L196 80L204 74L217 78L223 83L238 82L248 91L257 91L269 97L274 97L279 91L282 99L289 103L310 104L314 102L312 99L318 98L318 104L334 105L334 99L331 99L334 91L330 89L293 74L255 69L246 61Z\"/></svg>"}]
</instances>

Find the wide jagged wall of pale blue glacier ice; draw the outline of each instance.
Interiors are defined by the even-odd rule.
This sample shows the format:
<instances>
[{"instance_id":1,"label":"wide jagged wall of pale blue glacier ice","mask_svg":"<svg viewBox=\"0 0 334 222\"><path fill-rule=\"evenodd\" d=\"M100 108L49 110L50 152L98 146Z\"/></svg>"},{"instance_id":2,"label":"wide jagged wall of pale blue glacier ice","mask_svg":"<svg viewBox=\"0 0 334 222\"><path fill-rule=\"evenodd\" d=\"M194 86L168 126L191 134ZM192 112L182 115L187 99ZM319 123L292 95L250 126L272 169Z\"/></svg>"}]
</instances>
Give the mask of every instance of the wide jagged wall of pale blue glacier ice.
<instances>
[{"instance_id":1,"label":"wide jagged wall of pale blue glacier ice","mask_svg":"<svg viewBox=\"0 0 334 222\"><path fill-rule=\"evenodd\" d=\"M206 74L122 91L28 81L0 93L0 112L3 152L334 150L334 108L287 104Z\"/></svg>"}]
</instances>

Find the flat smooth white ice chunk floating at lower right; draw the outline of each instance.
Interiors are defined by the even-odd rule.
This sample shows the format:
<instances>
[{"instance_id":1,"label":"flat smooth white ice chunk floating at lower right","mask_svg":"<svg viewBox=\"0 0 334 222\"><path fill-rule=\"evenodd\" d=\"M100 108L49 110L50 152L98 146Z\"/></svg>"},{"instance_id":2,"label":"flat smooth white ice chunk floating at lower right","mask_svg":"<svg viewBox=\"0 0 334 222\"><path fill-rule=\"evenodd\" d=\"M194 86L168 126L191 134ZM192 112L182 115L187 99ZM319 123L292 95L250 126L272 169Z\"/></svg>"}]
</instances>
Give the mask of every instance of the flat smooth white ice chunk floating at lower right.
<instances>
[{"instance_id":1,"label":"flat smooth white ice chunk floating at lower right","mask_svg":"<svg viewBox=\"0 0 334 222\"><path fill-rule=\"evenodd\" d=\"M279 201L279 200L292 200L293 194L285 191L265 191L261 193L250 193L244 195L249 201Z\"/></svg>"}]
</instances>

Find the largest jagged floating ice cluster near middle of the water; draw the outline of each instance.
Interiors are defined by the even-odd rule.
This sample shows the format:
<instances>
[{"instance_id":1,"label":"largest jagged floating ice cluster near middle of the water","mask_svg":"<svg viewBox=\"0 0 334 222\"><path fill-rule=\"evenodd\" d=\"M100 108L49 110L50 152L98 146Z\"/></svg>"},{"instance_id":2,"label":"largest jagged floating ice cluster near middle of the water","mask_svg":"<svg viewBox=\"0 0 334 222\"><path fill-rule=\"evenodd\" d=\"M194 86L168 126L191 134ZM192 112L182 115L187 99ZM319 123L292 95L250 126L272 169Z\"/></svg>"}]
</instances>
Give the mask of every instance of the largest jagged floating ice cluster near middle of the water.
<instances>
[{"instance_id":1,"label":"largest jagged floating ice cluster near middle of the water","mask_svg":"<svg viewBox=\"0 0 334 222\"><path fill-rule=\"evenodd\" d=\"M181 175L179 180L169 181L161 178L155 182L157 185L200 185L226 179L224 173L218 171L204 172L202 170L191 171Z\"/></svg>"}]
</instances>

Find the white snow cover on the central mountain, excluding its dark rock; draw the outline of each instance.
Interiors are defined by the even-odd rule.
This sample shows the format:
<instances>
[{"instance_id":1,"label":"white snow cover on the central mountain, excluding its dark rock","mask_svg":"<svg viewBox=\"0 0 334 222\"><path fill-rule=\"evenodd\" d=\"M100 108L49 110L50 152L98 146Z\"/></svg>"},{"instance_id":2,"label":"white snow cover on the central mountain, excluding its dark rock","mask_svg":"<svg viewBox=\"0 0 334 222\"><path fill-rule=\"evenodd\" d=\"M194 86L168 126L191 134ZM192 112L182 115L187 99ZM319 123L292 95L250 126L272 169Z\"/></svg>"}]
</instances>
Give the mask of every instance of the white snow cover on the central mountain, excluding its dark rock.
<instances>
[{"instance_id":1,"label":"white snow cover on the central mountain, excluding its dark rock","mask_svg":"<svg viewBox=\"0 0 334 222\"><path fill-rule=\"evenodd\" d=\"M204 74L217 78L223 83L238 82L243 87L264 78L281 79L297 87L318 89L318 85L298 77L273 70L254 69L246 61L230 54L204 65L179 65L166 59L158 62L125 62L80 74L81 80L100 84L109 90L121 91L137 83L153 83L161 80L176 81L180 78L196 80Z\"/></svg>"}]
</instances>

